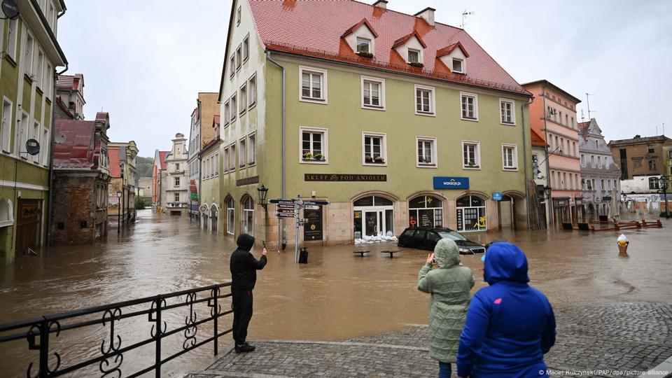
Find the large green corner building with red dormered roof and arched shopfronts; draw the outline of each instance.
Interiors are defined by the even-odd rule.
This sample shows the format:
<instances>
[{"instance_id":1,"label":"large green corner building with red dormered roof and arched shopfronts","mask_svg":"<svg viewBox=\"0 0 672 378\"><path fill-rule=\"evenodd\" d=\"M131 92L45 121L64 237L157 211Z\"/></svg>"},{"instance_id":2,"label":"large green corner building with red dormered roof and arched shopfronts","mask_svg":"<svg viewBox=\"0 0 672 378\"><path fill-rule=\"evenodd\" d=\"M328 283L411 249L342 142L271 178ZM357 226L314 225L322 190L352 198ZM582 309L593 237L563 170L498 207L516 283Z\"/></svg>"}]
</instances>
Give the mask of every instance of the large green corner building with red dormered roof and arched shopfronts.
<instances>
[{"instance_id":1,"label":"large green corner building with red dormered roof and arched shopfronts","mask_svg":"<svg viewBox=\"0 0 672 378\"><path fill-rule=\"evenodd\" d=\"M293 219L258 205L261 184L268 199L330 202L302 214L302 243L528 227L531 94L432 8L235 1L226 52L228 235L293 244Z\"/></svg>"}]
</instances>

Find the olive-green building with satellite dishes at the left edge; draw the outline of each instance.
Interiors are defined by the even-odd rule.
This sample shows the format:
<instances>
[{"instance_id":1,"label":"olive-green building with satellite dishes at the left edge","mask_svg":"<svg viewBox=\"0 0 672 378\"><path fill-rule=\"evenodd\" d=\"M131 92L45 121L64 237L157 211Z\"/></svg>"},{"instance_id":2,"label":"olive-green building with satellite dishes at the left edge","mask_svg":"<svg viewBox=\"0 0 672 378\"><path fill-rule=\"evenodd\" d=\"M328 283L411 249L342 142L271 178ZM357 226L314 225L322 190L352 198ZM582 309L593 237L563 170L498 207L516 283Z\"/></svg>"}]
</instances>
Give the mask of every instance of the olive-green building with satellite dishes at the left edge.
<instances>
[{"instance_id":1,"label":"olive-green building with satellite dishes at the left edge","mask_svg":"<svg viewBox=\"0 0 672 378\"><path fill-rule=\"evenodd\" d=\"M61 0L17 1L0 20L0 259L38 251L47 240L56 67L67 61L57 40ZM7 16L7 15L5 15ZM40 149L27 151L34 139Z\"/></svg>"}]
</instances>

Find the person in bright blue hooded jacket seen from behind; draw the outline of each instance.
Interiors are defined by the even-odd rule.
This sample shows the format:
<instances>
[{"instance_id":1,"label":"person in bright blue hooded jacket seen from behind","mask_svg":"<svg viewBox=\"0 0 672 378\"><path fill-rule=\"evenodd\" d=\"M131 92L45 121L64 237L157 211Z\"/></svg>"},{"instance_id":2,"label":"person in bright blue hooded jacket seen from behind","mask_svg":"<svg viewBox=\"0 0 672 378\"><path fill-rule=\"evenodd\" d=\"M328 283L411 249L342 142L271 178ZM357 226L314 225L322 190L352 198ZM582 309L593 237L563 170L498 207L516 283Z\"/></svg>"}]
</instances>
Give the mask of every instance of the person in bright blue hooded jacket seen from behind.
<instances>
[{"instance_id":1,"label":"person in bright blue hooded jacket seen from behind","mask_svg":"<svg viewBox=\"0 0 672 378\"><path fill-rule=\"evenodd\" d=\"M467 311L457 356L459 377L547 377L544 354L555 343L548 299L528 285L527 258L510 243L485 255L484 280Z\"/></svg>"}]
</instances>

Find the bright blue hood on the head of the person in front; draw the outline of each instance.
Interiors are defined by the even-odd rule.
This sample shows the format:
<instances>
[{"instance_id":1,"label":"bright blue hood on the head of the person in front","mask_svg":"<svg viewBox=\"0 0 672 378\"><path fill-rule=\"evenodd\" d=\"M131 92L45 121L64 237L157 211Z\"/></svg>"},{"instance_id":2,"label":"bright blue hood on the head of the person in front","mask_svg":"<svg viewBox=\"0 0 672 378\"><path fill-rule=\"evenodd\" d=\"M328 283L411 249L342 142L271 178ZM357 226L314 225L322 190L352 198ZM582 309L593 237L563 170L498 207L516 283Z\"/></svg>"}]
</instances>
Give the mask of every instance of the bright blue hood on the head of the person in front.
<instances>
[{"instance_id":1,"label":"bright blue hood on the head of the person in front","mask_svg":"<svg viewBox=\"0 0 672 378\"><path fill-rule=\"evenodd\" d=\"M486 252L483 279L493 285L499 281L528 283L527 258L520 248L511 243L492 244Z\"/></svg>"}]
</instances>

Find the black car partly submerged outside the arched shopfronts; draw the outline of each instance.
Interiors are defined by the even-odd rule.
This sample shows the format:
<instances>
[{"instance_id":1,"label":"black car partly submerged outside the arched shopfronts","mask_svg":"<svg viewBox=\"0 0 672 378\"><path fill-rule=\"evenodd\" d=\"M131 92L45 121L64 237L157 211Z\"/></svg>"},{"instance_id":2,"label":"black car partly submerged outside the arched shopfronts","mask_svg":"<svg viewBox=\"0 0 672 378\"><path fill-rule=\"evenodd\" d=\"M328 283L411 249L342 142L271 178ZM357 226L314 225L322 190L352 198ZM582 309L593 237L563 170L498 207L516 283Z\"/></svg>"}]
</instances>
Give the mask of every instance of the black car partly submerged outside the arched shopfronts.
<instances>
[{"instance_id":1,"label":"black car partly submerged outside the arched shopfronts","mask_svg":"<svg viewBox=\"0 0 672 378\"><path fill-rule=\"evenodd\" d=\"M410 227L399 235L397 245L434 251L436 243L444 238L455 241L455 244L460 248L460 253L463 255L485 252L485 247L482 244L471 241L461 233L449 228Z\"/></svg>"}]
</instances>

